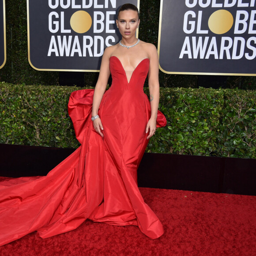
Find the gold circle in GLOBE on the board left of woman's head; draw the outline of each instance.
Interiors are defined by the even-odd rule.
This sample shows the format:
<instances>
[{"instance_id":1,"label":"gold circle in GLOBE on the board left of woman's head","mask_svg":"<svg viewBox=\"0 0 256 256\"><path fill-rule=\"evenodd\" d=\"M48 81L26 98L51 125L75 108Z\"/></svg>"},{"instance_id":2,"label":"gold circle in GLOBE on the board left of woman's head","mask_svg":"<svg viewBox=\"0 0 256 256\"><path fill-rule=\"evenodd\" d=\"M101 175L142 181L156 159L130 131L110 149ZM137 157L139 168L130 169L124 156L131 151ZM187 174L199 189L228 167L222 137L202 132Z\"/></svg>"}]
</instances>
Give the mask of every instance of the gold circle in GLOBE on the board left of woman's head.
<instances>
[{"instance_id":1,"label":"gold circle in GLOBE on the board left of woman's head","mask_svg":"<svg viewBox=\"0 0 256 256\"><path fill-rule=\"evenodd\" d=\"M86 11L76 11L70 19L70 26L76 33L87 32L92 24L91 16Z\"/></svg>"}]
</instances>

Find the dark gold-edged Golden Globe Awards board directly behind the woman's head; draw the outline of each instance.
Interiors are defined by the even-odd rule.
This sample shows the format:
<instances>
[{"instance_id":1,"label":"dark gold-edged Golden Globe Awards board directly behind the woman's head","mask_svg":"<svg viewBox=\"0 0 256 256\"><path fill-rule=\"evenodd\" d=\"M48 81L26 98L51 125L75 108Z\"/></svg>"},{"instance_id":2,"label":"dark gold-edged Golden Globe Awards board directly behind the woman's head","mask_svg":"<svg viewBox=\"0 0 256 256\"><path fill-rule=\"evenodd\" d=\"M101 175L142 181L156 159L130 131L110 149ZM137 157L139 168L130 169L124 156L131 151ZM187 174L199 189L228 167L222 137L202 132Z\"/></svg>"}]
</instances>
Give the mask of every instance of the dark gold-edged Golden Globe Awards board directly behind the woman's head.
<instances>
[{"instance_id":1,"label":"dark gold-edged Golden Globe Awards board directly behind the woman's head","mask_svg":"<svg viewBox=\"0 0 256 256\"><path fill-rule=\"evenodd\" d=\"M27 0L28 60L37 70L99 71L120 40L115 20L127 0ZM129 0L139 8L139 0Z\"/></svg>"}]
</instances>

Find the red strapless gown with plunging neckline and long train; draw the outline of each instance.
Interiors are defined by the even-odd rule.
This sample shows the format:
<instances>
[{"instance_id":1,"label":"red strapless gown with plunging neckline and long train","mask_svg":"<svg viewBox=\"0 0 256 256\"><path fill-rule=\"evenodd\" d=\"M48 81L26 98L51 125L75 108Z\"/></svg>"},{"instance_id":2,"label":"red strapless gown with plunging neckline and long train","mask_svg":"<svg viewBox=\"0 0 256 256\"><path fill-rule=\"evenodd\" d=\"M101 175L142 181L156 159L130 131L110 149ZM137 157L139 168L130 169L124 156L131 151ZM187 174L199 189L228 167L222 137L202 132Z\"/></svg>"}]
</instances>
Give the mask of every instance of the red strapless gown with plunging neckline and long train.
<instances>
[{"instance_id":1,"label":"red strapless gown with plunging neckline and long train","mask_svg":"<svg viewBox=\"0 0 256 256\"><path fill-rule=\"evenodd\" d=\"M113 83L98 111L104 138L90 120L94 90L74 91L68 111L81 146L47 176L1 179L0 245L35 230L42 238L74 230L87 218L136 225L152 239L162 235L161 222L137 186L137 168L148 143L150 102L143 84L149 59L139 63L129 83L117 57L110 58L109 66ZM159 111L157 124L166 125Z\"/></svg>"}]
</instances>

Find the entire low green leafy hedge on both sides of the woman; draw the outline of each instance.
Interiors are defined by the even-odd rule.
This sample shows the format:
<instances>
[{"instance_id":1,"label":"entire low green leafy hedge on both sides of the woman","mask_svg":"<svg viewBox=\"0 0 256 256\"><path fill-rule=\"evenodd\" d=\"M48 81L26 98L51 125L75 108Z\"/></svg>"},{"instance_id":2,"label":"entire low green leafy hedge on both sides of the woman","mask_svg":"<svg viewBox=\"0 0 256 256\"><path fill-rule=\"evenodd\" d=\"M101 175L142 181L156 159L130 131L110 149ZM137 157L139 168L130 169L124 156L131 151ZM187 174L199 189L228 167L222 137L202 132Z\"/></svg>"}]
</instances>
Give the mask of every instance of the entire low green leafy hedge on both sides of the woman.
<instances>
[{"instance_id":1,"label":"entire low green leafy hedge on both sides of the woman","mask_svg":"<svg viewBox=\"0 0 256 256\"><path fill-rule=\"evenodd\" d=\"M78 147L67 105L79 89L0 83L0 143ZM256 158L256 91L161 88L160 94L167 125L147 152Z\"/></svg>"}]
</instances>

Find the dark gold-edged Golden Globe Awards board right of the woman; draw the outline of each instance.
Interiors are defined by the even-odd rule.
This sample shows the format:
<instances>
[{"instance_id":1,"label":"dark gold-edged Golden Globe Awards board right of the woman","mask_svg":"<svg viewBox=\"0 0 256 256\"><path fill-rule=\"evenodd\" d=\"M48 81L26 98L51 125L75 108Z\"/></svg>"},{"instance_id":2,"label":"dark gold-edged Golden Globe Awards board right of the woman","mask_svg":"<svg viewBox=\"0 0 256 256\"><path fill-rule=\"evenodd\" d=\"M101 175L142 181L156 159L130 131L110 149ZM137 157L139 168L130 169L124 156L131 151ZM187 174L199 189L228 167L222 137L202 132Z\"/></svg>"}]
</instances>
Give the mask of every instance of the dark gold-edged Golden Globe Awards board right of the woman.
<instances>
[{"instance_id":1,"label":"dark gold-edged Golden Globe Awards board right of the woman","mask_svg":"<svg viewBox=\"0 0 256 256\"><path fill-rule=\"evenodd\" d=\"M161 0L158 54L169 74L256 75L255 0Z\"/></svg>"}]
</instances>

